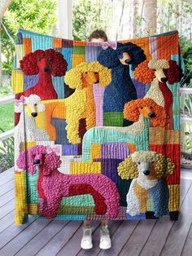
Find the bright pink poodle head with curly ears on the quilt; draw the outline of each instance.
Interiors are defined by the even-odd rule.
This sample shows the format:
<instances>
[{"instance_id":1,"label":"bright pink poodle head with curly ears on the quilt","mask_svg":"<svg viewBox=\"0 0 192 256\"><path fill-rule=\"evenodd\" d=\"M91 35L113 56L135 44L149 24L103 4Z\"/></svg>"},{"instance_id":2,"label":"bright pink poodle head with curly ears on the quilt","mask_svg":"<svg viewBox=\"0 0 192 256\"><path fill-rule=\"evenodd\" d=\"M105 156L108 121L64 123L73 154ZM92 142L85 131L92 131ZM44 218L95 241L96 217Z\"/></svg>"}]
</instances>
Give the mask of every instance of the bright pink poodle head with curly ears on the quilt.
<instances>
[{"instance_id":1,"label":"bright pink poodle head with curly ears on the quilt","mask_svg":"<svg viewBox=\"0 0 192 256\"><path fill-rule=\"evenodd\" d=\"M61 161L55 152L47 153L45 146L37 145L20 152L16 164L20 169L27 170L29 174L36 174L38 166L44 175L49 175L59 168Z\"/></svg>"}]
</instances>

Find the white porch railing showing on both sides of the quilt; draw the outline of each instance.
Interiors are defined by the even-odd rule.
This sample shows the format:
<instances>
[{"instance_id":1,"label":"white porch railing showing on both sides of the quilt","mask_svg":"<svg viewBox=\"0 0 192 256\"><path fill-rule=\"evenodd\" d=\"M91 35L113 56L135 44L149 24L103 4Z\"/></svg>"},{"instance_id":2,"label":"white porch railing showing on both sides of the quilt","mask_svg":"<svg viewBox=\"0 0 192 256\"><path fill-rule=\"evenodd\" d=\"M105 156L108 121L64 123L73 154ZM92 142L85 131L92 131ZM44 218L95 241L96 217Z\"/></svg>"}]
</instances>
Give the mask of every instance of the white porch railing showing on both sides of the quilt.
<instances>
[{"instance_id":1,"label":"white porch railing showing on both sides of the quilt","mask_svg":"<svg viewBox=\"0 0 192 256\"><path fill-rule=\"evenodd\" d=\"M185 94L191 94L192 95L192 88L180 88L180 93ZM8 95L6 97L0 98L0 106L3 104L8 104L10 102L14 102L15 95ZM181 117L181 122L191 122L192 123L192 117ZM14 129L7 130L0 134L0 141L10 138L14 135Z\"/></svg>"}]
</instances>

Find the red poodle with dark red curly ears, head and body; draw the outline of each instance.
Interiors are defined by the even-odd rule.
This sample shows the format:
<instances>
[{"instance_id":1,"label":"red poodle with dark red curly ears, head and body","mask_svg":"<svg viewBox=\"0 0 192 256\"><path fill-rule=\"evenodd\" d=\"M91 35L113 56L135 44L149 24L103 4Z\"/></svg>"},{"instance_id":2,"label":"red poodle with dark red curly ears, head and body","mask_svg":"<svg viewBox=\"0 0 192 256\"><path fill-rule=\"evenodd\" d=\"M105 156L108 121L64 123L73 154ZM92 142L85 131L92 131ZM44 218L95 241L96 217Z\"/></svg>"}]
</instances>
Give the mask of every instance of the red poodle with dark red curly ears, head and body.
<instances>
[{"instance_id":1,"label":"red poodle with dark red curly ears, head and body","mask_svg":"<svg viewBox=\"0 0 192 256\"><path fill-rule=\"evenodd\" d=\"M39 82L28 90L17 94L16 99L20 99L21 95L32 94L38 95L41 100L58 99L51 75L54 77L64 76L67 66L68 63L63 59L63 55L53 49L37 50L25 55L23 60L20 60L20 68L24 75L39 74Z\"/></svg>"}]
</instances>

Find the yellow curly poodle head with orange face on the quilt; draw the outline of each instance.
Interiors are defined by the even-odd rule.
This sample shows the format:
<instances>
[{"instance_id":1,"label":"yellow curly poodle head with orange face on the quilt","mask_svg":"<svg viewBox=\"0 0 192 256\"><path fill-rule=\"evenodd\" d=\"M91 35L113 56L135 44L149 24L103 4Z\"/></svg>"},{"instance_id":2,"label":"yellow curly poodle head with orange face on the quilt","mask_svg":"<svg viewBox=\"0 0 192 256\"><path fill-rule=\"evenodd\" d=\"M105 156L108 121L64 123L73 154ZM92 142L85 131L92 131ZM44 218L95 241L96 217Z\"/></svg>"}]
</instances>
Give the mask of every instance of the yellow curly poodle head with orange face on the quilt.
<instances>
[{"instance_id":1,"label":"yellow curly poodle head with orange face on the quilt","mask_svg":"<svg viewBox=\"0 0 192 256\"><path fill-rule=\"evenodd\" d=\"M66 73L65 83L72 89L82 90L98 84L108 86L111 82L111 71L98 61L82 62Z\"/></svg>"}]
</instances>

